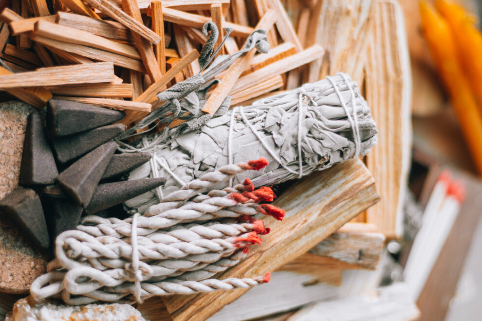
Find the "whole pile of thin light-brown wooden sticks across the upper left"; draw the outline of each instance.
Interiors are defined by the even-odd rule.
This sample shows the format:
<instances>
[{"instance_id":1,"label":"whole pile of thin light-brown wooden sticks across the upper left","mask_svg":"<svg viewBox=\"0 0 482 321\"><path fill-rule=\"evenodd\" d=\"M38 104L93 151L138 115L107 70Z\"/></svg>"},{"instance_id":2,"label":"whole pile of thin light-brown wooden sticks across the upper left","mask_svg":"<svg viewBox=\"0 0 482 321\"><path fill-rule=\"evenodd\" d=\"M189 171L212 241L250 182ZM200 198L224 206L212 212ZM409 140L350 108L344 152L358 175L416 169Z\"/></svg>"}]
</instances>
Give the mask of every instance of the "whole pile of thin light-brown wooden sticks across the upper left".
<instances>
[{"instance_id":1,"label":"whole pile of thin light-brown wooden sticks across the upper left","mask_svg":"<svg viewBox=\"0 0 482 321\"><path fill-rule=\"evenodd\" d=\"M152 110L157 93L200 72L208 21L220 31L216 48L232 29L219 54L239 51L255 27L268 29L271 47L219 75L204 107L211 114L228 94L237 105L298 87L309 76L299 67L324 54L306 41L310 7L290 18L280 0L19 0L0 20L0 89L39 109L55 97L128 110L126 125Z\"/></svg>"}]
</instances>

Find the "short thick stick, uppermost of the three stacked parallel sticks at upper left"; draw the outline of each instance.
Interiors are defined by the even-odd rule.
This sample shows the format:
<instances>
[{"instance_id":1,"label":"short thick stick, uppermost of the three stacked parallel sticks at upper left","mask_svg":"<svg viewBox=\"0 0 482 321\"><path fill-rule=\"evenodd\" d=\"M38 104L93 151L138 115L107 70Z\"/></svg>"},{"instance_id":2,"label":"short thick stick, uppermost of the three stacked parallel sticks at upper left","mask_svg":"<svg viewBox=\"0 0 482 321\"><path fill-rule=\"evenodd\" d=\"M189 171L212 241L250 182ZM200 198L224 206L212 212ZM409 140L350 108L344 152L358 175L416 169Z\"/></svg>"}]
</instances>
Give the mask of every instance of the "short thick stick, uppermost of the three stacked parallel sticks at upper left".
<instances>
[{"instance_id":1,"label":"short thick stick, uppermost of the three stacked parallel sticks at upper left","mask_svg":"<svg viewBox=\"0 0 482 321\"><path fill-rule=\"evenodd\" d=\"M116 21L100 20L59 11L57 12L55 22L62 26L87 31L97 36L132 41L130 30L124 27L123 24Z\"/></svg>"}]
</instances>

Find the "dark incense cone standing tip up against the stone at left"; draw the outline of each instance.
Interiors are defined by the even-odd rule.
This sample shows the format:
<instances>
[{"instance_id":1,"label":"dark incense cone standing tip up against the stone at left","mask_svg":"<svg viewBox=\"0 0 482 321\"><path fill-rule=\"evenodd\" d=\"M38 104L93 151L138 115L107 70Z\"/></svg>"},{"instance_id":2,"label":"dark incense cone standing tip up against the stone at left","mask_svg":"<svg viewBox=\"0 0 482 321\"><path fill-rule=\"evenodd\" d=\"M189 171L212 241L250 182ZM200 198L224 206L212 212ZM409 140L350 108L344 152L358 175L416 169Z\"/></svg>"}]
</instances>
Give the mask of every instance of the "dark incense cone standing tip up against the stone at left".
<instances>
[{"instance_id":1,"label":"dark incense cone standing tip up against the stone at left","mask_svg":"<svg viewBox=\"0 0 482 321\"><path fill-rule=\"evenodd\" d=\"M50 185L55 182L57 175L54 155L45 138L42 120L37 111L34 111L27 120L19 184Z\"/></svg>"}]
</instances>

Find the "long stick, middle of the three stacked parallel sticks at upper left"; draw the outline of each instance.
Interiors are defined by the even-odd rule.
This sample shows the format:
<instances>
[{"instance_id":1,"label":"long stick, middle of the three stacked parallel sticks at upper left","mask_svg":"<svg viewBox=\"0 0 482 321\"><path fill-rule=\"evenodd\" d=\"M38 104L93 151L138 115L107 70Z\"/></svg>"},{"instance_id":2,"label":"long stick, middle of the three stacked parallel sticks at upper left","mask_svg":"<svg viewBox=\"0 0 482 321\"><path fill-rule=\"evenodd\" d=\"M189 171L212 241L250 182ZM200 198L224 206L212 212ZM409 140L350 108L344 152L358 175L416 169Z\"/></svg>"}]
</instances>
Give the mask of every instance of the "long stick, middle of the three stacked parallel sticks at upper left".
<instances>
[{"instance_id":1,"label":"long stick, middle of the three stacked parallel sticks at upper left","mask_svg":"<svg viewBox=\"0 0 482 321\"><path fill-rule=\"evenodd\" d=\"M37 21L34 30L35 34L38 36L93 47L132 59L141 59L141 56L134 47L101 36L95 36L82 30L66 26L59 28L57 24L49 21Z\"/></svg>"}]
</instances>

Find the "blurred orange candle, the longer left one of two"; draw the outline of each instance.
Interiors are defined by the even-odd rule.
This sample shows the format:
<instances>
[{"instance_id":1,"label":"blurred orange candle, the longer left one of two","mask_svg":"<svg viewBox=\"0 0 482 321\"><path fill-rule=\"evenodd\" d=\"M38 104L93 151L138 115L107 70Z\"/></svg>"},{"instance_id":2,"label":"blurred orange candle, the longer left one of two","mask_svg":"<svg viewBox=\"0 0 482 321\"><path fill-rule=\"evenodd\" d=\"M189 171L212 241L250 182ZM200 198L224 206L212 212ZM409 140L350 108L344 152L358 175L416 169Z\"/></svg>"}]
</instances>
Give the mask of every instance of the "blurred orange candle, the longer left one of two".
<instances>
[{"instance_id":1,"label":"blurred orange candle, the longer left one of two","mask_svg":"<svg viewBox=\"0 0 482 321\"><path fill-rule=\"evenodd\" d=\"M482 176L482 118L469 81L459 66L456 44L450 28L435 8L425 1L420 2L420 16L422 18L422 34L435 67L450 95L474 164Z\"/></svg>"}]
</instances>

